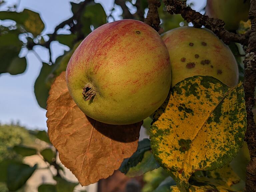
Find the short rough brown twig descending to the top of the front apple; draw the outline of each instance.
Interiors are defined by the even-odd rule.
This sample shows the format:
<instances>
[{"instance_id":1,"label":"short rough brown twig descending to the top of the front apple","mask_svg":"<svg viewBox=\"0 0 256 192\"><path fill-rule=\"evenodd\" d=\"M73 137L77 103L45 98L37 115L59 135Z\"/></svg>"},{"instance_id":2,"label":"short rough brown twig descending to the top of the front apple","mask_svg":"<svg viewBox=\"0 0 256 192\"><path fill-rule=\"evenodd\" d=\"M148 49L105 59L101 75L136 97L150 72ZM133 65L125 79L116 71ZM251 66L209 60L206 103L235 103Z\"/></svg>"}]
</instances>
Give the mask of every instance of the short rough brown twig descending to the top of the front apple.
<instances>
[{"instance_id":1,"label":"short rough brown twig descending to the top of the front apple","mask_svg":"<svg viewBox=\"0 0 256 192\"><path fill-rule=\"evenodd\" d=\"M148 0L148 14L144 22L153 27L157 32L160 30L160 18L157 8L161 6L159 0Z\"/></svg>"}]
</instances>

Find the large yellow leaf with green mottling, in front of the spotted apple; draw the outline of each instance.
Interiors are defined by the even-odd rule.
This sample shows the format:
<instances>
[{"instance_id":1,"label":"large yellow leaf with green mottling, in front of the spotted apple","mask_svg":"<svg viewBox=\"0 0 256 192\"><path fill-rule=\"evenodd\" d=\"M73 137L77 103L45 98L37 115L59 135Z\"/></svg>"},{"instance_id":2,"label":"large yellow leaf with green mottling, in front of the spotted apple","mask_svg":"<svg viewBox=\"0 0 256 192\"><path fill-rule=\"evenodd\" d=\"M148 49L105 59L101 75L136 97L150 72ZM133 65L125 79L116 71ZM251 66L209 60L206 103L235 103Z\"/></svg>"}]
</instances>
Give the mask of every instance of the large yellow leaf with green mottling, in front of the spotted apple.
<instances>
[{"instance_id":1,"label":"large yellow leaf with green mottling, in front of the spotted apple","mask_svg":"<svg viewBox=\"0 0 256 192\"><path fill-rule=\"evenodd\" d=\"M150 129L154 157L180 191L197 170L229 163L243 145L246 110L242 83L228 87L209 76L176 84L154 114Z\"/></svg>"}]
</instances>

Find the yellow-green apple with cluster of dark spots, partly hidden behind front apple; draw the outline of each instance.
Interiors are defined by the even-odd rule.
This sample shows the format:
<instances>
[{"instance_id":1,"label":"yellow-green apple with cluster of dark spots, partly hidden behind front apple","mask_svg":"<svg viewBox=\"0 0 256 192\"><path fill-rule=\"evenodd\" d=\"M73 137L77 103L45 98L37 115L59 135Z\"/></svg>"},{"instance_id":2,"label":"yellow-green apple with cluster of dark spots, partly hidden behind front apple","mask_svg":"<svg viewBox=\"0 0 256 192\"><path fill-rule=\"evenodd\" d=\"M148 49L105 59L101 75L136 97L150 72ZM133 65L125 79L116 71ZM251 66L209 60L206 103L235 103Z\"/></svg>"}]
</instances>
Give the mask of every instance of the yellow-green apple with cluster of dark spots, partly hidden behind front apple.
<instances>
[{"instance_id":1,"label":"yellow-green apple with cluster of dark spots, partly hidden behind front apple","mask_svg":"<svg viewBox=\"0 0 256 192\"><path fill-rule=\"evenodd\" d=\"M171 61L172 87L195 75L212 76L232 87L238 67L229 49L208 29L179 27L162 34Z\"/></svg>"}]
</instances>

